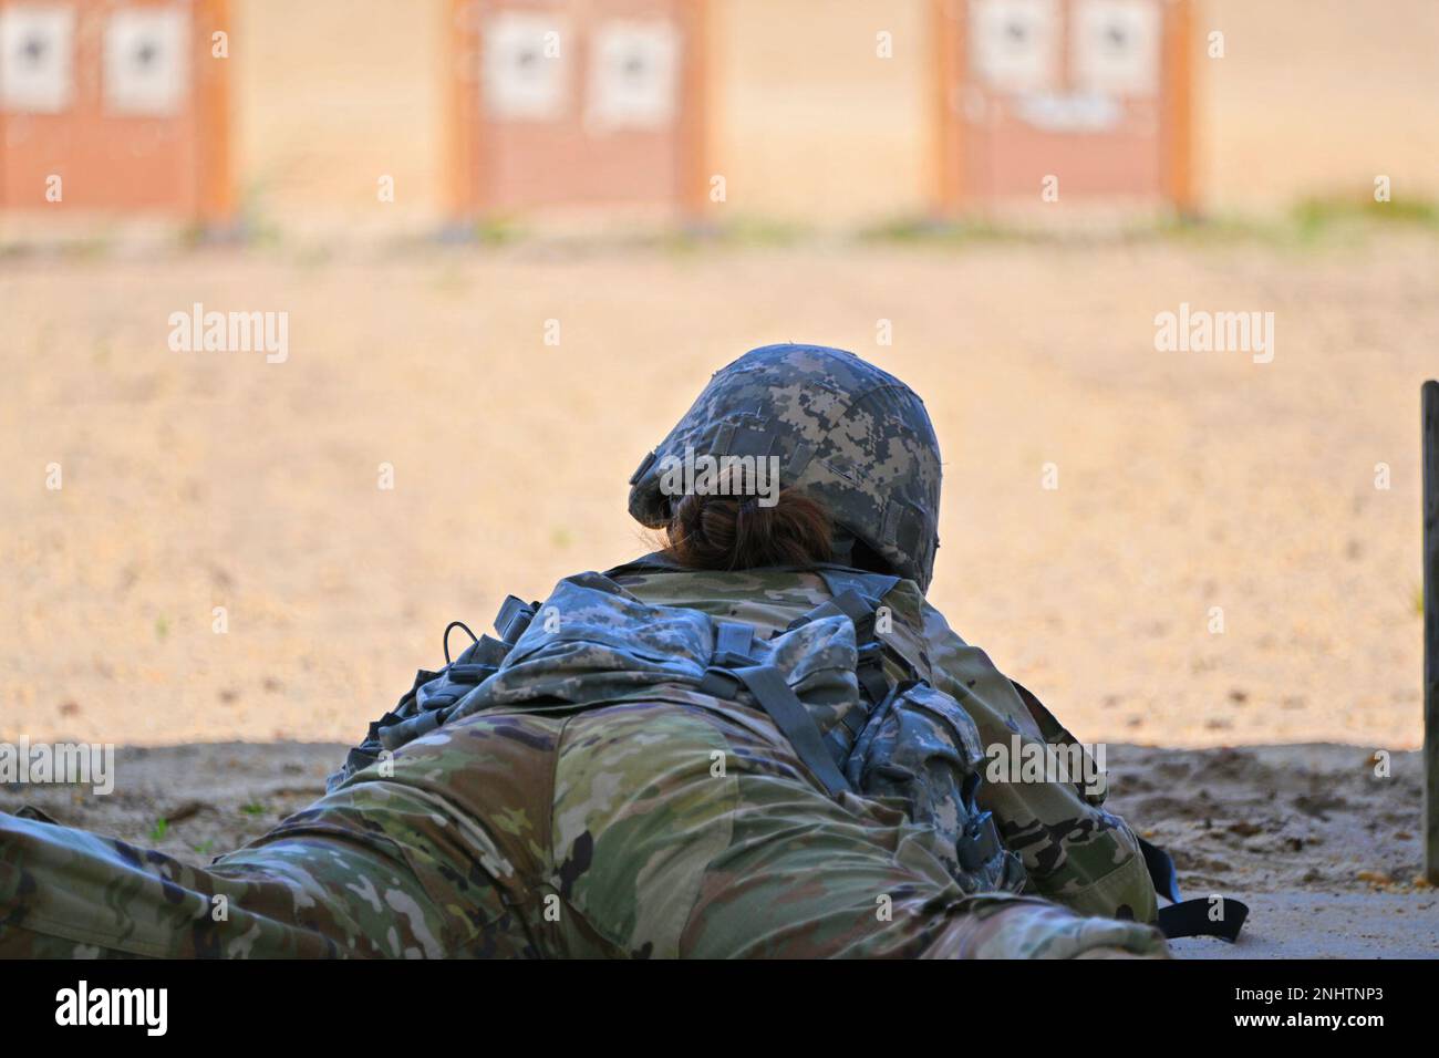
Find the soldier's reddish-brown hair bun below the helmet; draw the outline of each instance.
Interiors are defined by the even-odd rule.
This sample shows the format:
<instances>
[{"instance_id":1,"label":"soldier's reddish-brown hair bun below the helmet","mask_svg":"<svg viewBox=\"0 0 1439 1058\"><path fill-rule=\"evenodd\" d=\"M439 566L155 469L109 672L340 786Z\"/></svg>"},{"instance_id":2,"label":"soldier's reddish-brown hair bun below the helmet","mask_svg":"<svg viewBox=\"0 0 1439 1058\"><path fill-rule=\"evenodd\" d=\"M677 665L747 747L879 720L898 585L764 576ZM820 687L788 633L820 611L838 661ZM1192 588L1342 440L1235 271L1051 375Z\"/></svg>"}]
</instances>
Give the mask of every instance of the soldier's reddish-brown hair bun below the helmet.
<instances>
[{"instance_id":1,"label":"soldier's reddish-brown hair bun below the helmet","mask_svg":"<svg viewBox=\"0 0 1439 1058\"><path fill-rule=\"evenodd\" d=\"M686 494L673 505L665 554L694 570L748 570L830 561L835 528L822 504L781 489L757 497Z\"/></svg>"}]
</instances>

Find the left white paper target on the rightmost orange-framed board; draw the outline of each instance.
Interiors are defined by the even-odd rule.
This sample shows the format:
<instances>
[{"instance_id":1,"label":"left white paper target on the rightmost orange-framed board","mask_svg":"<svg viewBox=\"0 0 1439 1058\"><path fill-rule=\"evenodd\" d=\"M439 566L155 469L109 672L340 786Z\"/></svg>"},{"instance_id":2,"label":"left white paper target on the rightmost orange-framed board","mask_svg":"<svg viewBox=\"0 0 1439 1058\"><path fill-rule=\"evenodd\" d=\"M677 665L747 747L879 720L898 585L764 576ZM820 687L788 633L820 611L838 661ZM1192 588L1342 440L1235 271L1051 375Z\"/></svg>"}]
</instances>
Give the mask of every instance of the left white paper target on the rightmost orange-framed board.
<instances>
[{"instance_id":1,"label":"left white paper target on the rightmost orange-framed board","mask_svg":"<svg viewBox=\"0 0 1439 1058\"><path fill-rule=\"evenodd\" d=\"M1058 0L971 0L970 60L986 88L1053 91L1059 55Z\"/></svg>"}]
</instances>

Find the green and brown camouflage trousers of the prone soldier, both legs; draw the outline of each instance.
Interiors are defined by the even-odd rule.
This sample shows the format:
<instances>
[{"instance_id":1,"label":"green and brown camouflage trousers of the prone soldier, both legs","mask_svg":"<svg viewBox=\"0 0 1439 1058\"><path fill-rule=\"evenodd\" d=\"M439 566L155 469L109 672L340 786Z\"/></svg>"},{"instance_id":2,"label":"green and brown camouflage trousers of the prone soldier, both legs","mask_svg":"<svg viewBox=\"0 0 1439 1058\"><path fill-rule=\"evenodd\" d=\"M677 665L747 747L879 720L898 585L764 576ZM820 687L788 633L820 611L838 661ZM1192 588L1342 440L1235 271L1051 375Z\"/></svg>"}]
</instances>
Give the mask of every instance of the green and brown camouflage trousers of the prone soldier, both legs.
<instances>
[{"instance_id":1,"label":"green and brown camouflage trousers of the prone soldier, both legs","mask_svg":"<svg viewBox=\"0 0 1439 1058\"><path fill-rule=\"evenodd\" d=\"M932 832L827 797L768 718L484 713L209 868L0 815L0 956L1069 957L1148 926L966 895Z\"/></svg>"}]
</instances>

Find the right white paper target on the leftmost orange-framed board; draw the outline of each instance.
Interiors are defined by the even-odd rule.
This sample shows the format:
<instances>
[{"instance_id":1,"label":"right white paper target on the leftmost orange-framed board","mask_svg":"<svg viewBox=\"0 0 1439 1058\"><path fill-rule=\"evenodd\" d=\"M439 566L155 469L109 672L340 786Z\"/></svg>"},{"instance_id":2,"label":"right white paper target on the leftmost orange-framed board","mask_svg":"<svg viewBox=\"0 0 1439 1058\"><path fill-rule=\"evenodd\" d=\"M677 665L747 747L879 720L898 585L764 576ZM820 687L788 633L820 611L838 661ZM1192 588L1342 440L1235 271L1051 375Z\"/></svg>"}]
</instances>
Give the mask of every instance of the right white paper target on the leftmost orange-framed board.
<instances>
[{"instance_id":1,"label":"right white paper target on the leftmost orange-framed board","mask_svg":"<svg viewBox=\"0 0 1439 1058\"><path fill-rule=\"evenodd\" d=\"M167 117L184 109L190 16L183 7L114 12L105 23L105 108Z\"/></svg>"}]
</instances>

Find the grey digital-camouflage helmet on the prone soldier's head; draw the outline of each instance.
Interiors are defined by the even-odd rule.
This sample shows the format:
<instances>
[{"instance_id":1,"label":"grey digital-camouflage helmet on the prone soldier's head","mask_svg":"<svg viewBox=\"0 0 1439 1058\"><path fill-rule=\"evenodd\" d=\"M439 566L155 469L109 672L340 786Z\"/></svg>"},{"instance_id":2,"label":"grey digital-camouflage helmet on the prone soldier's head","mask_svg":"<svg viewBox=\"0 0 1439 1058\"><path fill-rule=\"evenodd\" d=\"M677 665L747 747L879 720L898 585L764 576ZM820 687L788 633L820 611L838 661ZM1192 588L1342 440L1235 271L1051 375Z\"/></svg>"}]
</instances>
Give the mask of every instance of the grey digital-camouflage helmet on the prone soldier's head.
<instances>
[{"instance_id":1,"label":"grey digital-camouflage helmet on the prone soldier's head","mask_svg":"<svg viewBox=\"0 0 1439 1058\"><path fill-rule=\"evenodd\" d=\"M778 484L829 508L835 524L895 573L930 586L940 546L940 443L924 402L853 353L764 345L715 371L694 407L630 476L629 511L669 524L675 461L774 456ZM672 479L671 479L672 481Z\"/></svg>"}]
</instances>

